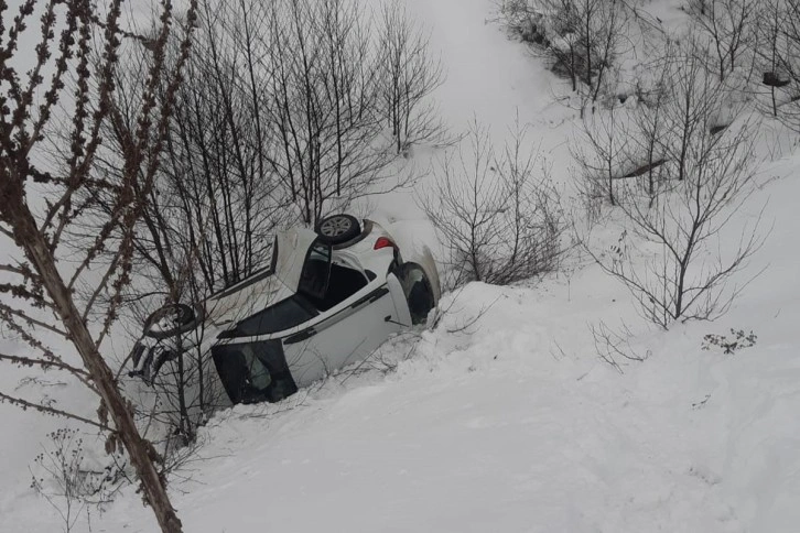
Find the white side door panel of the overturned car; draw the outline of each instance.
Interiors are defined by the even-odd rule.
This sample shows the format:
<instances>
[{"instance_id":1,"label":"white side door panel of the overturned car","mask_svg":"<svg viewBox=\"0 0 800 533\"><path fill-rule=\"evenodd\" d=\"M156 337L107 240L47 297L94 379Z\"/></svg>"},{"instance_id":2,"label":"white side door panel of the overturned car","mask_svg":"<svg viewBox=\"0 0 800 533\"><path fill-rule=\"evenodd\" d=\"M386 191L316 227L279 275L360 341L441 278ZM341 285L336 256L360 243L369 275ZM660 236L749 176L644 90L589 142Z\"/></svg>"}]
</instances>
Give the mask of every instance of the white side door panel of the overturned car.
<instances>
[{"instance_id":1,"label":"white side door panel of the overturned car","mask_svg":"<svg viewBox=\"0 0 800 533\"><path fill-rule=\"evenodd\" d=\"M287 362L298 385L307 385L363 360L406 326L398 320L388 284L372 282L313 326L284 338Z\"/></svg>"}]
</instances>

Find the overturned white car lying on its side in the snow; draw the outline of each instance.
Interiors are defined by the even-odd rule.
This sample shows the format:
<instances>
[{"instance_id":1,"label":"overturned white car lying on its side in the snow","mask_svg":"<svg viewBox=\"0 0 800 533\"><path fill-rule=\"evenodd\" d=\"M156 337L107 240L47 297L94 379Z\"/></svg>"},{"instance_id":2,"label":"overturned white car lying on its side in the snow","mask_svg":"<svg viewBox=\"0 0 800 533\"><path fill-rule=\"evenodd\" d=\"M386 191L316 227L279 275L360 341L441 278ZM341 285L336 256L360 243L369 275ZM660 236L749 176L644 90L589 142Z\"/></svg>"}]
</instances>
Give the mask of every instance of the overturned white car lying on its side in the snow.
<instances>
[{"instance_id":1,"label":"overturned white car lying on its side in the snow","mask_svg":"<svg viewBox=\"0 0 800 533\"><path fill-rule=\"evenodd\" d=\"M423 323L439 296L426 248L401 252L378 224L334 215L316 231L278 235L270 268L202 303L153 313L130 373L151 380L180 356L176 346L199 342L233 403L274 402Z\"/></svg>"}]
</instances>

